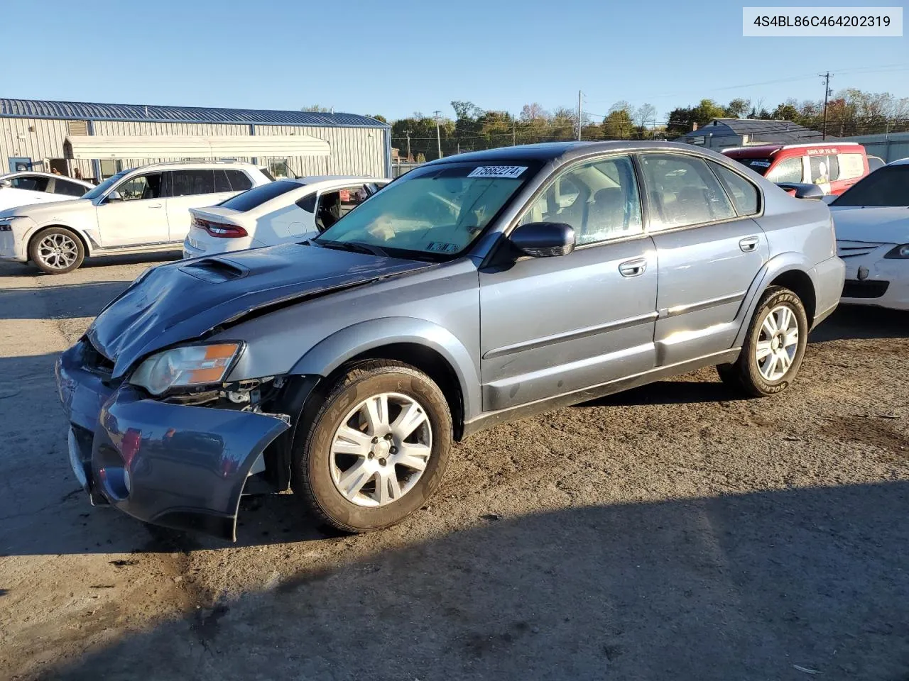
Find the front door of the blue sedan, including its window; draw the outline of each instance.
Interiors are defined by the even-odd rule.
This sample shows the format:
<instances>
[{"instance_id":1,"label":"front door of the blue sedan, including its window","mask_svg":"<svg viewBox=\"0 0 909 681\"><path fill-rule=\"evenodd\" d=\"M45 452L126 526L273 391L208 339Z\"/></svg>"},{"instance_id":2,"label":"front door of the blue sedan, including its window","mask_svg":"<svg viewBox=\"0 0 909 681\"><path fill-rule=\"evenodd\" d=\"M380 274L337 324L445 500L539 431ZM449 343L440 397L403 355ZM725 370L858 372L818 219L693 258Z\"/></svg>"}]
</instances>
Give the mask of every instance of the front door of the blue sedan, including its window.
<instances>
[{"instance_id":1,"label":"front door of the blue sedan, including its window","mask_svg":"<svg viewBox=\"0 0 909 681\"><path fill-rule=\"evenodd\" d=\"M654 367L656 254L629 156L577 163L520 222L564 222L574 252L480 271L483 408L504 410Z\"/></svg>"}]
</instances>

